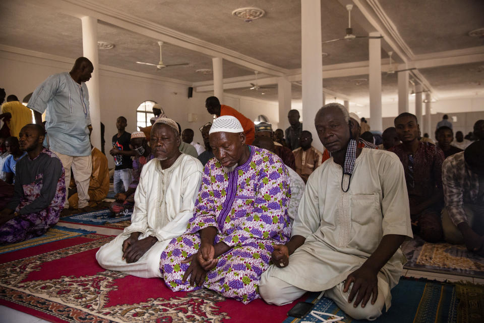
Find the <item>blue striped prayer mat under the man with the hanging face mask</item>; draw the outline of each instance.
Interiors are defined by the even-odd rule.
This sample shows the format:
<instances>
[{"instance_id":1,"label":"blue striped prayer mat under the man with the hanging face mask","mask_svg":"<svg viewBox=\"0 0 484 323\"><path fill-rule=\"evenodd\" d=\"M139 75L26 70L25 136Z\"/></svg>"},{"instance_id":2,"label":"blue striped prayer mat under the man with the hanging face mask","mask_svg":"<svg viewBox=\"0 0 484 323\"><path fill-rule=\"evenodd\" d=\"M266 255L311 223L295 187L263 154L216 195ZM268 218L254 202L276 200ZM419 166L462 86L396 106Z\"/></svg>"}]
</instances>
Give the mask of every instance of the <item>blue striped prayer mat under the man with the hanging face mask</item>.
<instances>
[{"instance_id":1,"label":"blue striped prayer mat under the man with the hanging face mask","mask_svg":"<svg viewBox=\"0 0 484 323\"><path fill-rule=\"evenodd\" d=\"M461 284L457 284L461 286ZM464 285L462 285L464 286ZM476 285L465 285L474 286ZM475 294L475 289L473 290ZM482 322L481 320L471 319L474 315L462 315L461 313L471 313L472 303L460 304L456 297L456 284L442 283L437 281L429 281L425 279L410 279L402 277L399 284L392 289L392 305L390 309L382 314L379 318L374 320L378 323L456 323L457 315L459 317L467 317L467 319L459 319L459 322ZM484 295L484 289L481 294ZM354 320L346 315L339 307L329 298L323 297L317 301L319 293L311 293L307 302L316 303L313 310L319 312L326 312L343 316L344 318L338 322L344 323L359 323L366 322L366 320ZM464 302L462 302L464 303ZM474 306L475 307L475 306ZM482 311L482 307L480 308ZM479 314L477 314L479 315ZM480 316L480 319L484 316ZM335 317L323 316L325 319ZM287 317L283 323L296 322L323 322L317 319L311 313L303 318Z\"/></svg>"}]
</instances>

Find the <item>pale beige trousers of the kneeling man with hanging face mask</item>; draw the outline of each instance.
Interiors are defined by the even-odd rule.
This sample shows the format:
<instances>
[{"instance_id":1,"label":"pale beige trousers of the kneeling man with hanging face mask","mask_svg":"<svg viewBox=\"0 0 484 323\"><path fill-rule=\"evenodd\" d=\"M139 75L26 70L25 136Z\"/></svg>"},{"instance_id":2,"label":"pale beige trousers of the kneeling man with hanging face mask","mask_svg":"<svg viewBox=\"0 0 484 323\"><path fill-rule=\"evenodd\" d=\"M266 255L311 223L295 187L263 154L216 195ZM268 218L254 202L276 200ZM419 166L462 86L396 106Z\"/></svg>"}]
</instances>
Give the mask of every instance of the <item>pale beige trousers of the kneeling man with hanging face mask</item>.
<instances>
[{"instance_id":1,"label":"pale beige trousers of the kneeling man with hanging face mask","mask_svg":"<svg viewBox=\"0 0 484 323\"><path fill-rule=\"evenodd\" d=\"M273 270L277 270L277 267L271 265L268 270L262 274L259 283L259 293L267 303L275 305L288 304L307 292L304 289L300 289L279 278L271 276ZM335 287L326 290L324 296L331 298L342 311L354 319L375 320L382 314L385 299L391 297L390 285L388 284L385 275L382 273L378 273L378 297L375 304L371 303L370 298L365 307L361 307L361 304L358 304L357 307L353 307L356 297L353 298L352 303L348 303L351 288L349 288L346 293L343 292L343 288L344 282L341 282Z\"/></svg>"}]
</instances>

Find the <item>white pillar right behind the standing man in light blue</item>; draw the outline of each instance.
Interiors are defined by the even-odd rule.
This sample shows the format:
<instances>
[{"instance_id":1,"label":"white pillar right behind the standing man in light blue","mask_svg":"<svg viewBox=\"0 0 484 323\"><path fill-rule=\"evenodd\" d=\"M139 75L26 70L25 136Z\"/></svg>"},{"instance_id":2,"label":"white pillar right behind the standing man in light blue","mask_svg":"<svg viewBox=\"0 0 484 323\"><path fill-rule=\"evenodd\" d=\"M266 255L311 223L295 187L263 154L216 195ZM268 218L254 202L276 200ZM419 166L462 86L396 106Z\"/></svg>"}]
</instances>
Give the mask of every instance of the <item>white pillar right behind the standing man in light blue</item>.
<instances>
[{"instance_id":1,"label":"white pillar right behind the standing man in light blue","mask_svg":"<svg viewBox=\"0 0 484 323\"><path fill-rule=\"evenodd\" d=\"M82 17L82 50L83 55L94 66L91 79L86 82L89 90L89 114L91 116L91 143L101 150L101 99L99 90L99 56L97 48L97 19ZM106 140L109 142L109 140Z\"/></svg>"}]
</instances>

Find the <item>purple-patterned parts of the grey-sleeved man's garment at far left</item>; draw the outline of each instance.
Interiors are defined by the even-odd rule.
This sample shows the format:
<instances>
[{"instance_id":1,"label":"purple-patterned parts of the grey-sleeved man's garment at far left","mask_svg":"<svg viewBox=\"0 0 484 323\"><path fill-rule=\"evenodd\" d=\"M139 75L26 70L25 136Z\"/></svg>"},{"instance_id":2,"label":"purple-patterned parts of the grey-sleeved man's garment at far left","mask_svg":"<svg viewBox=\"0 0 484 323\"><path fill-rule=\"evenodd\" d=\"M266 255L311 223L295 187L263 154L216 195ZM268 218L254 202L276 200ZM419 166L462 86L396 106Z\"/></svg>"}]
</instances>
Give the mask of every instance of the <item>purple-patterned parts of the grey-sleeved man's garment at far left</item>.
<instances>
[{"instance_id":1,"label":"purple-patterned parts of the grey-sleeved man's garment at far left","mask_svg":"<svg viewBox=\"0 0 484 323\"><path fill-rule=\"evenodd\" d=\"M40 154L42 153L49 155L51 158L56 158L58 163L61 164L61 160L50 150L44 148ZM25 158L28 158L28 156ZM21 214L6 222L3 226L0 226L0 244L16 243L41 236L48 228L54 226L59 221L59 214L64 209L64 202L66 200L65 171L62 164L61 169L62 174L57 181L55 194L49 206L38 212ZM52 176L52 174L49 174L48 169L44 171L44 173L37 174L32 183L22 183L23 194L20 196L20 203L15 209L16 212L19 212L23 207L39 198L44 176Z\"/></svg>"}]
</instances>

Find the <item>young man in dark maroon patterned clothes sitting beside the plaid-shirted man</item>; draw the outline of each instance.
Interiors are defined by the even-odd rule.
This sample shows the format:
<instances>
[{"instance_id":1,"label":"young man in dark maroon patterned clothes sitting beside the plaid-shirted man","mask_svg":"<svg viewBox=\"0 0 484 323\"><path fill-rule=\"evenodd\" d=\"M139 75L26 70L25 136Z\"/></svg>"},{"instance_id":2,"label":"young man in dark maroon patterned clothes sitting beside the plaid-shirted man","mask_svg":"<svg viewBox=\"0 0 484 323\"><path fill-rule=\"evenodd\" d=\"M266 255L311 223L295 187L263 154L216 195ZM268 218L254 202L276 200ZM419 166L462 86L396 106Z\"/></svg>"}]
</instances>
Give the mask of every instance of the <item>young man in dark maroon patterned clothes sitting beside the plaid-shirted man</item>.
<instances>
[{"instance_id":1,"label":"young man in dark maroon patterned clothes sitting beside the plaid-shirted man","mask_svg":"<svg viewBox=\"0 0 484 323\"><path fill-rule=\"evenodd\" d=\"M444 153L434 144L418 140L420 130L414 115L404 112L394 123L402 143L388 151L397 154L405 171L414 230L423 240L438 242L442 240Z\"/></svg>"}]
</instances>

